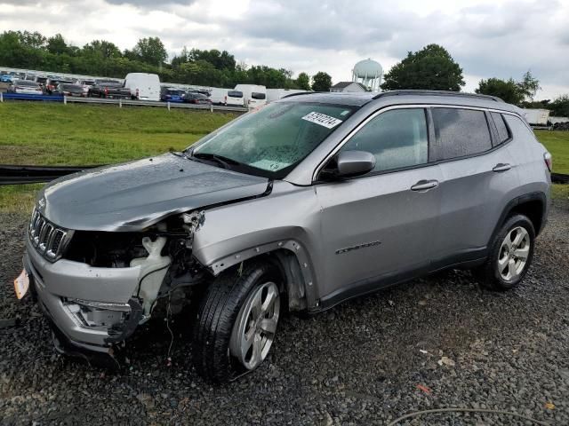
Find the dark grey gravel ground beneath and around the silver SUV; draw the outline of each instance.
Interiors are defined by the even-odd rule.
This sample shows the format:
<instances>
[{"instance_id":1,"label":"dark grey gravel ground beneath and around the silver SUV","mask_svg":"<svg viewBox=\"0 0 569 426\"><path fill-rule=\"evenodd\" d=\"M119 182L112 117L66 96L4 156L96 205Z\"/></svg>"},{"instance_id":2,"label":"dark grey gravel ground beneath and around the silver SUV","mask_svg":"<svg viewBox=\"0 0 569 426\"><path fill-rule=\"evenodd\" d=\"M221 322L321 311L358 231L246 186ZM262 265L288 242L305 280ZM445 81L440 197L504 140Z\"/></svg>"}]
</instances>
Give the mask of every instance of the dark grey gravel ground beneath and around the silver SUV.
<instances>
[{"instance_id":1,"label":"dark grey gravel ground beneath and around the silver SUV","mask_svg":"<svg viewBox=\"0 0 569 426\"><path fill-rule=\"evenodd\" d=\"M451 271L284 318L268 362L236 383L204 383L188 325L142 330L119 372L64 359L29 298L13 296L28 217L0 215L0 423L386 424L438 407L493 408L569 424L569 203L556 201L533 268L514 291ZM4 323L5 326L5 323ZM446 357L446 358L444 358ZM443 359L445 362L441 361ZM495 414L430 414L399 424L533 424Z\"/></svg>"}]
</instances>

